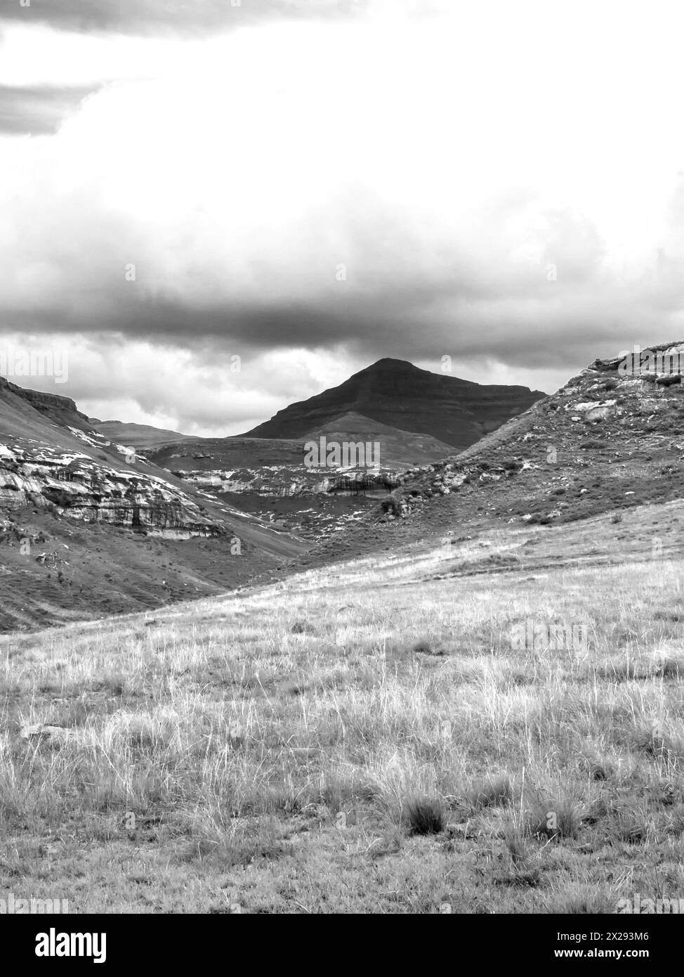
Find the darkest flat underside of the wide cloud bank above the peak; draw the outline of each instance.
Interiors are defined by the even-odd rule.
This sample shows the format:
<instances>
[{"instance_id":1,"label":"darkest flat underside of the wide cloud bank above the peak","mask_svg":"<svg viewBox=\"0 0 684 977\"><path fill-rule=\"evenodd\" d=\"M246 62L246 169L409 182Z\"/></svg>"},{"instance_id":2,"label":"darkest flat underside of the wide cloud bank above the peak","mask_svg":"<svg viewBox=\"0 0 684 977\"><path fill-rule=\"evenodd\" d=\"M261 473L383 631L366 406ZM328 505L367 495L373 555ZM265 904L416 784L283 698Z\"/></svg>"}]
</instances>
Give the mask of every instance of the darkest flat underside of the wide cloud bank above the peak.
<instances>
[{"instance_id":1,"label":"darkest flat underside of the wide cloud bank above the peak","mask_svg":"<svg viewBox=\"0 0 684 977\"><path fill-rule=\"evenodd\" d=\"M412 280L373 292L337 292L289 303L153 301L93 295L97 316L88 309L17 311L6 326L26 332L42 328L65 334L119 334L122 343L145 340L178 344L199 361L225 356L261 356L292 349L344 348L357 360L384 356L435 361L498 361L532 369L583 366L596 356L617 356L633 342L660 341L677 332L684 300L681 276L645 287L642 280L579 283L577 270L565 284L547 281L540 267L533 276L502 273L477 285L458 278ZM474 274L474 273L473 273ZM671 327L665 323L671 321ZM96 324L97 323L97 324ZM571 368L574 368L571 367ZM484 382L484 380L483 380Z\"/></svg>"}]
</instances>

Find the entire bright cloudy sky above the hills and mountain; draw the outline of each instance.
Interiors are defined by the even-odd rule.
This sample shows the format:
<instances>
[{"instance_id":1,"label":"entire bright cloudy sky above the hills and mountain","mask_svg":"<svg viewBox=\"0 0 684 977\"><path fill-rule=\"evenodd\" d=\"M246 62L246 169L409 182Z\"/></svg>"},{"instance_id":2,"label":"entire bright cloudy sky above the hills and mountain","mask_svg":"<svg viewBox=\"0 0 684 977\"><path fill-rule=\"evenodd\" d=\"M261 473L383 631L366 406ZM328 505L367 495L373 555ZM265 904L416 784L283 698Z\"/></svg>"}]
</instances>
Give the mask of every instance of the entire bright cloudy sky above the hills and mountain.
<instances>
[{"instance_id":1,"label":"entire bright cloudy sky above the hills and mountain","mask_svg":"<svg viewBox=\"0 0 684 977\"><path fill-rule=\"evenodd\" d=\"M684 338L677 2L0 0L0 353L237 434ZM231 358L240 357L240 370Z\"/></svg>"}]
</instances>

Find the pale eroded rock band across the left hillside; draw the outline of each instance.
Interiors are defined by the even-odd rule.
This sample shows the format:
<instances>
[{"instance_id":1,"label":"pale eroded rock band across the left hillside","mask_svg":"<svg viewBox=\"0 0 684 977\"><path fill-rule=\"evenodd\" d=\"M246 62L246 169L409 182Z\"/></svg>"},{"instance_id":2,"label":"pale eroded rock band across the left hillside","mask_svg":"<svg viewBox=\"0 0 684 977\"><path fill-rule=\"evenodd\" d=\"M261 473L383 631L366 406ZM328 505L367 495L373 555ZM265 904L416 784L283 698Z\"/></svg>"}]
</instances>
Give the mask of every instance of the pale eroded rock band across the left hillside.
<instances>
[{"instance_id":1,"label":"pale eroded rock band across the left hillside","mask_svg":"<svg viewBox=\"0 0 684 977\"><path fill-rule=\"evenodd\" d=\"M187 495L153 475L117 470L85 453L0 444L0 509L26 505L174 538L221 532Z\"/></svg>"}]
</instances>

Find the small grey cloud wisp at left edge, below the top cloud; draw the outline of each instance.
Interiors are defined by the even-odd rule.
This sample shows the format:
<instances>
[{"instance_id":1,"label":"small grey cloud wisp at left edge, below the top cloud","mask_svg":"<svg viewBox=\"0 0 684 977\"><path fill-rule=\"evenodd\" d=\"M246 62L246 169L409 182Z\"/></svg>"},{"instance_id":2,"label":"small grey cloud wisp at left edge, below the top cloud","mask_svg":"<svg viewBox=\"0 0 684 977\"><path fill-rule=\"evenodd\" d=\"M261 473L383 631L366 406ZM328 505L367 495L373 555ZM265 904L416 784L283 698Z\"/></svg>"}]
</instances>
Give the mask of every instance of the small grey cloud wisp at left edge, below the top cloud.
<instances>
[{"instance_id":1,"label":"small grey cloud wisp at left edge, below the top cloud","mask_svg":"<svg viewBox=\"0 0 684 977\"><path fill-rule=\"evenodd\" d=\"M63 119L97 90L0 85L0 135L54 135Z\"/></svg>"}]
</instances>

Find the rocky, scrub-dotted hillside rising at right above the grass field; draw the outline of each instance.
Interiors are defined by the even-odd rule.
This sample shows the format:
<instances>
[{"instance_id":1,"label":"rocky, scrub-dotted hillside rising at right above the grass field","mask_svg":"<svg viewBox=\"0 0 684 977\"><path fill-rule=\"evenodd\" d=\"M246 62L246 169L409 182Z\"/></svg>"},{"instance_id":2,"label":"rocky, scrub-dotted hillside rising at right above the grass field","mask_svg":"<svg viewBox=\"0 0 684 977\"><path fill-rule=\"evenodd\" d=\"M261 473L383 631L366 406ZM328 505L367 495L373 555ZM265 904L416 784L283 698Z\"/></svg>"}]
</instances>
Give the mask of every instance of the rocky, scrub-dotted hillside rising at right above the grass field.
<instances>
[{"instance_id":1,"label":"rocky, scrub-dotted hillside rising at right above the grass field","mask_svg":"<svg viewBox=\"0 0 684 977\"><path fill-rule=\"evenodd\" d=\"M399 476L381 519L428 515L457 496L470 518L485 511L548 525L684 492L684 386L668 362L684 344L653 348L658 362L625 368L596 360L550 397L456 456Z\"/></svg>"}]
</instances>

